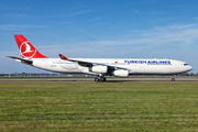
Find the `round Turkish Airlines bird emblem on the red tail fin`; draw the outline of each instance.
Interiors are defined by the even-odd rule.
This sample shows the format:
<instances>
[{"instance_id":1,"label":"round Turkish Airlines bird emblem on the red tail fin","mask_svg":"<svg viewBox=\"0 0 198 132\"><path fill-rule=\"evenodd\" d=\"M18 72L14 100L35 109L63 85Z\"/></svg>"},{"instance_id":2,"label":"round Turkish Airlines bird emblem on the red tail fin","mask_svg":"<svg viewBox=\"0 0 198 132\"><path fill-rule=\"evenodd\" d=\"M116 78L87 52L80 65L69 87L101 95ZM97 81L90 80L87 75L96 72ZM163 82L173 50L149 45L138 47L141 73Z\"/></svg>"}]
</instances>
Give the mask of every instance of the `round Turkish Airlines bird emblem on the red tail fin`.
<instances>
[{"instance_id":1,"label":"round Turkish Airlines bird emblem on the red tail fin","mask_svg":"<svg viewBox=\"0 0 198 132\"><path fill-rule=\"evenodd\" d=\"M29 41L25 41L21 44L20 52L24 58L25 57L32 58L35 55L36 50L30 44Z\"/></svg>"}]
</instances>

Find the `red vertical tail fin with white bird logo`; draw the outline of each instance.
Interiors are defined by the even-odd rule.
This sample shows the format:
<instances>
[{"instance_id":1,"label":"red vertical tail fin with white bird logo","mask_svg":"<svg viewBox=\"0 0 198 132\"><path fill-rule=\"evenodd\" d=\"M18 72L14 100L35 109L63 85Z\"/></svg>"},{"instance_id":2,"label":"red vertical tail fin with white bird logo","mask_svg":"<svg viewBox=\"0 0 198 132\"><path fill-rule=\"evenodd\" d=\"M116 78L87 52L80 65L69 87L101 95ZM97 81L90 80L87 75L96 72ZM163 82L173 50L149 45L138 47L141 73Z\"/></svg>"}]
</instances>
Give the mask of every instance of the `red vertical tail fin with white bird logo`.
<instances>
[{"instance_id":1,"label":"red vertical tail fin with white bird logo","mask_svg":"<svg viewBox=\"0 0 198 132\"><path fill-rule=\"evenodd\" d=\"M14 37L23 58L47 58L38 53L23 35L14 35Z\"/></svg>"}]
</instances>

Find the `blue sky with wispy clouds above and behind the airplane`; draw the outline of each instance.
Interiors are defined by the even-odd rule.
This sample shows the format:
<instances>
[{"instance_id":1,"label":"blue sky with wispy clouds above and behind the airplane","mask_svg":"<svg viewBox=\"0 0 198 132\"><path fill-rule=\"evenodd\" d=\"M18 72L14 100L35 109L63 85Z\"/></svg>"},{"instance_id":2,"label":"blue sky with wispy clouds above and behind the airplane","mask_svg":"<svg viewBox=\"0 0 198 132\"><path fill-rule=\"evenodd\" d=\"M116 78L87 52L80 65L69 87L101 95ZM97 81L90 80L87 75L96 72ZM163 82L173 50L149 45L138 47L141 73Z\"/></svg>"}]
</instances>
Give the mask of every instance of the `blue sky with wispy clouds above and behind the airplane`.
<instances>
[{"instance_id":1,"label":"blue sky with wispy clouds above and behind the airplane","mask_svg":"<svg viewBox=\"0 0 198 132\"><path fill-rule=\"evenodd\" d=\"M0 0L0 74L47 73L21 57L23 34L47 57L169 58L198 73L197 0Z\"/></svg>"}]
</instances>

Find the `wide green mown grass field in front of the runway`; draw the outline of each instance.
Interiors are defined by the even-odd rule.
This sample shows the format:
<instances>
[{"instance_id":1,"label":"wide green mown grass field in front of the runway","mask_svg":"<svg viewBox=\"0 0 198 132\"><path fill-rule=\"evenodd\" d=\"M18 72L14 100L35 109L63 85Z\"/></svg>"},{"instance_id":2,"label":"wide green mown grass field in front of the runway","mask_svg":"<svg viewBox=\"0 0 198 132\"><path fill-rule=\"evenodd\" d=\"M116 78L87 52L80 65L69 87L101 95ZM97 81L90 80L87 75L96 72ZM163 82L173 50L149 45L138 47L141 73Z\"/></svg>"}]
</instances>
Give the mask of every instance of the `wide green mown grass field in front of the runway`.
<instances>
[{"instance_id":1,"label":"wide green mown grass field in front of the runway","mask_svg":"<svg viewBox=\"0 0 198 132\"><path fill-rule=\"evenodd\" d=\"M198 131L198 84L0 84L0 131Z\"/></svg>"}]
</instances>

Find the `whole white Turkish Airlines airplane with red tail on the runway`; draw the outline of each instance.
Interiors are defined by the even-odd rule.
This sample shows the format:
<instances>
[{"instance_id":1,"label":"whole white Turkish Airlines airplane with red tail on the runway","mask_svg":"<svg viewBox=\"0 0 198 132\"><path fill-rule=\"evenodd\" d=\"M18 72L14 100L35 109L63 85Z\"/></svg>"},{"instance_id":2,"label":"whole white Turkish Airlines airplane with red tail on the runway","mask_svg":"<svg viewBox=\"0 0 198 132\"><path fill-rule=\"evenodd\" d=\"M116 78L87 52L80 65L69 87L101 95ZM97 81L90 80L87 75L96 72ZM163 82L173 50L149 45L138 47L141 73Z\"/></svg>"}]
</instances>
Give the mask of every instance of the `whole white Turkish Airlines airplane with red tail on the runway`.
<instances>
[{"instance_id":1,"label":"whole white Turkish Airlines airplane with red tail on the runway","mask_svg":"<svg viewBox=\"0 0 198 132\"><path fill-rule=\"evenodd\" d=\"M175 59L138 58L48 58L42 55L23 35L14 34L21 56L8 56L16 62L63 74L96 75L95 81L106 81L106 76L129 77L130 75L175 75L193 69L185 62Z\"/></svg>"}]
</instances>

